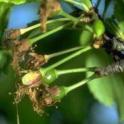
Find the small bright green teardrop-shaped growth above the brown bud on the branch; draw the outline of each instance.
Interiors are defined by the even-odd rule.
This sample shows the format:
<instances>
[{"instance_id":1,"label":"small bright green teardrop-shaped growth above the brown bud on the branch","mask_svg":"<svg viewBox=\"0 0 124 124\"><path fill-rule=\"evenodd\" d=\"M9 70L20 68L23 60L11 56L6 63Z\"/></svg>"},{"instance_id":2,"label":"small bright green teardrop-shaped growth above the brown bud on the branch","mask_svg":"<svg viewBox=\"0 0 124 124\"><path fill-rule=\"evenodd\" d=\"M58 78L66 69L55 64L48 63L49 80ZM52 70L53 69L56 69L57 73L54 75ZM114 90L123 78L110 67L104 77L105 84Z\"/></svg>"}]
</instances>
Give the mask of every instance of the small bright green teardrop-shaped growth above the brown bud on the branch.
<instances>
[{"instance_id":1,"label":"small bright green teardrop-shaped growth above the brown bud on the branch","mask_svg":"<svg viewBox=\"0 0 124 124\"><path fill-rule=\"evenodd\" d=\"M93 30L96 38L100 38L105 32L105 26L103 22L98 19L93 23Z\"/></svg>"}]
</instances>

